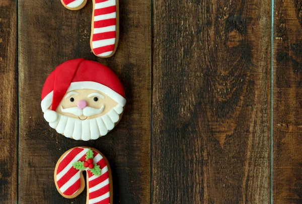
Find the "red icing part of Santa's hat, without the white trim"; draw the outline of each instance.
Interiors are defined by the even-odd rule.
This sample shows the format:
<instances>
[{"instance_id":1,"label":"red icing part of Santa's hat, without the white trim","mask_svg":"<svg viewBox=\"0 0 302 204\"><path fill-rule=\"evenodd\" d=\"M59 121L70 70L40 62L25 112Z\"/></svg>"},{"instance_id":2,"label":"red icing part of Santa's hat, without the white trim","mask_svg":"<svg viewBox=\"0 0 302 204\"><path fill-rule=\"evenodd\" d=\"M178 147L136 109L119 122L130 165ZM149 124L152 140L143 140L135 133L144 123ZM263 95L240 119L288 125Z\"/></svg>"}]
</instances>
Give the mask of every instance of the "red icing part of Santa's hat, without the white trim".
<instances>
[{"instance_id":1,"label":"red icing part of Santa's hat, without the white trim","mask_svg":"<svg viewBox=\"0 0 302 204\"><path fill-rule=\"evenodd\" d=\"M42 89L41 99L53 90L51 110L55 111L70 83L78 81L101 83L125 97L123 86L111 69L98 62L73 59L60 64L49 74Z\"/></svg>"}]
</instances>

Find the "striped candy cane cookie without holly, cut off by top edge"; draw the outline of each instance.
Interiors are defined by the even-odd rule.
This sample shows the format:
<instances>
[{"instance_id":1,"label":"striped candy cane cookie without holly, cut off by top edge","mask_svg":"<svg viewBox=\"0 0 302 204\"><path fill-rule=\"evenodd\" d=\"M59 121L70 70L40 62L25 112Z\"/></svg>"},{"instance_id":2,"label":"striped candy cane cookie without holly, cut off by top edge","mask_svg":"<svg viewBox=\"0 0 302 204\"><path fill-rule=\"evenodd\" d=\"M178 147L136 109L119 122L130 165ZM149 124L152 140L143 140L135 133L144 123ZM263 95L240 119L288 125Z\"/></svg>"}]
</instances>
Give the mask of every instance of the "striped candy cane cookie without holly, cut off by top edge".
<instances>
[{"instance_id":1,"label":"striped candy cane cookie without holly, cut off by top edge","mask_svg":"<svg viewBox=\"0 0 302 204\"><path fill-rule=\"evenodd\" d=\"M82 9L87 0L61 0L69 10ZM119 13L117 0L93 0L90 47L98 57L114 55L119 37Z\"/></svg>"}]
</instances>

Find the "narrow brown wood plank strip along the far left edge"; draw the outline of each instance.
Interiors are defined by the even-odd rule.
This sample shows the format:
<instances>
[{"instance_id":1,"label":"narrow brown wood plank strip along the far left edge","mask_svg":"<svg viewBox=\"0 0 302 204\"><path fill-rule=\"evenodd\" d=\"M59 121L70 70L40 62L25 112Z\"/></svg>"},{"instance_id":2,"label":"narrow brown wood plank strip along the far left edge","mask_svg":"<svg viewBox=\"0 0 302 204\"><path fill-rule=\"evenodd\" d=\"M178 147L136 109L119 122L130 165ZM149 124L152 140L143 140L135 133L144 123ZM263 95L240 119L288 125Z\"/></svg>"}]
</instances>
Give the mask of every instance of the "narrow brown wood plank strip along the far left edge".
<instances>
[{"instance_id":1,"label":"narrow brown wood plank strip along the far left edge","mask_svg":"<svg viewBox=\"0 0 302 204\"><path fill-rule=\"evenodd\" d=\"M17 9L0 2L0 203L17 201Z\"/></svg>"}]
</instances>

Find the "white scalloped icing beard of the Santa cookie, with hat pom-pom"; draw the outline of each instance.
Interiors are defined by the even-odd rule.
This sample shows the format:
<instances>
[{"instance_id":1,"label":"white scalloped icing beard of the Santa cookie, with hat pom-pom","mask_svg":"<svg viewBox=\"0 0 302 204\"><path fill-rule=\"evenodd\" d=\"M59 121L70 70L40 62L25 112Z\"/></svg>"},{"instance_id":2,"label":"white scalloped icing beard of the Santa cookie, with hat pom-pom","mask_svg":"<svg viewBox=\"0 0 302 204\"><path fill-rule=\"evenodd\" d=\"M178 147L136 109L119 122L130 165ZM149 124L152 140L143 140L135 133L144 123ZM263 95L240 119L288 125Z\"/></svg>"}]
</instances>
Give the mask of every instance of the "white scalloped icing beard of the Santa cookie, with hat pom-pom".
<instances>
[{"instance_id":1,"label":"white scalloped icing beard of the Santa cookie, with hat pom-pom","mask_svg":"<svg viewBox=\"0 0 302 204\"><path fill-rule=\"evenodd\" d=\"M108 113L94 119L80 120L68 116L63 116L54 111L47 110L44 118L49 122L49 126L59 134L74 140L96 140L100 136L105 136L112 130L115 123L119 121L119 116L123 112L121 105L115 106Z\"/></svg>"}]
</instances>

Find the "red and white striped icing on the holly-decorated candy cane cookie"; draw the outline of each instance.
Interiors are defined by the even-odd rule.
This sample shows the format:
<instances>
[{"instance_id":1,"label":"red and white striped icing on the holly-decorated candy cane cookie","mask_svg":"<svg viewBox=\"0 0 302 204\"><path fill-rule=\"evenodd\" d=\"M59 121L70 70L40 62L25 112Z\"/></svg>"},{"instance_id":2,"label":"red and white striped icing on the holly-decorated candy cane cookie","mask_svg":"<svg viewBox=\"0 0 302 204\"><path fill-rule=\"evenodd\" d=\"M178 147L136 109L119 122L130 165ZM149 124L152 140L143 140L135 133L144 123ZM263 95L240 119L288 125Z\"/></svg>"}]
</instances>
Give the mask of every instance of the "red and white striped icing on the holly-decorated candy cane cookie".
<instances>
[{"instance_id":1,"label":"red and white striped icing on the holly-decorated candy cane cookie","mask_svg":"<svg viewBox=\"0 0 302 204\"><path fill-rule=\"evenodd\" d=\"M83 170L73 168L72 164L77 161L85 161L88 148L77 147L67 152L59 162L56 169L56 184L63 195L73 195L81 187L80 174ZM101 154L93 150L95 164L101 168L100 176L93 175L88 168L88 203L108 204L110 203L110 178L106 160ZM81 193L81 192L79 192Z\"/></svg>"}]
</instances>

